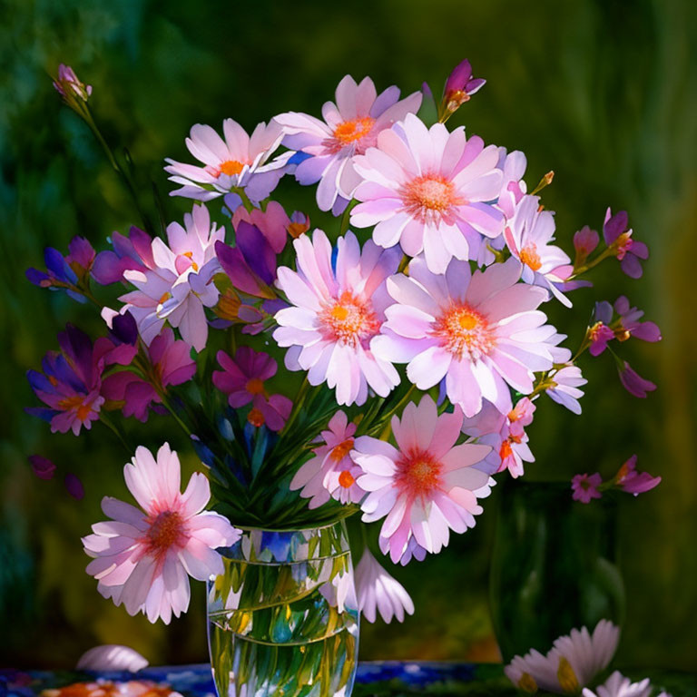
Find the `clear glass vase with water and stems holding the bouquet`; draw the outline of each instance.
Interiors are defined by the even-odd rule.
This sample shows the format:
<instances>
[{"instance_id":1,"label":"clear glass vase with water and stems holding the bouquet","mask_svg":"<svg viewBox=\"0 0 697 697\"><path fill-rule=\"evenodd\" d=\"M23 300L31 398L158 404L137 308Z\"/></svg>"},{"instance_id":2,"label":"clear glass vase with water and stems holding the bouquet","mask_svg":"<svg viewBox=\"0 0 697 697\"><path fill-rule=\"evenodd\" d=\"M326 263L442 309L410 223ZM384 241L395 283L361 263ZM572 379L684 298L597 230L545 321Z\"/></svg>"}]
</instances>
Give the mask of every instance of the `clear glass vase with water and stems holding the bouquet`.
<instances>
[{"instance_id":1,"label":"clear glass vase with water and stems holding the bouquet","mask_svg":"<svg viewBox=\"0 0 697 697\"><path fill-rule=\"evenodd\" d=\"M219 697L348 695L358 607L343 523L244 529L208 586L208 642Z\"/></svg>"}]
</instances>

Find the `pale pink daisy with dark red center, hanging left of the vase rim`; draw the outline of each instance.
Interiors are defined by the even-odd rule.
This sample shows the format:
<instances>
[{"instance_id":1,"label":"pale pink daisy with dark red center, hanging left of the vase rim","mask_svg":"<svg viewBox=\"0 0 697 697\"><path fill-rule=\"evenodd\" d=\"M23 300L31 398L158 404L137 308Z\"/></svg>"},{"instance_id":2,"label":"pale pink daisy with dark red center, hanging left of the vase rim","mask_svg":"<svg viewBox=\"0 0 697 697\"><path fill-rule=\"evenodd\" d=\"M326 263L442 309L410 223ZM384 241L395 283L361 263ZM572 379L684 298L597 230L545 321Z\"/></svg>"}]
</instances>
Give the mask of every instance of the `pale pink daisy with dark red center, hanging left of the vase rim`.
<instances>
[{"instance_id":1,"label":"pale pink daisy with dark red center, hanging left of the vase rim","mask_svg":"<svg viewBox=\"0 0 697 697\"><path fill-rule=\"evenodd\" d=\"M113 520L93 525L93 535L83 537L84 551L94 557L87 573L99 581L97 590L123 603L128 614L170 623L172 614L179 617L189 607L189 575L207 581L222 574L215 550L232 545L240 532L222 515L203 511L211 498L205 475L191 475L181 493L179 457L167 443L157 459L138 447L123 474L142 511L103 498L102 510Z\"/></svg>"}]
</instances>

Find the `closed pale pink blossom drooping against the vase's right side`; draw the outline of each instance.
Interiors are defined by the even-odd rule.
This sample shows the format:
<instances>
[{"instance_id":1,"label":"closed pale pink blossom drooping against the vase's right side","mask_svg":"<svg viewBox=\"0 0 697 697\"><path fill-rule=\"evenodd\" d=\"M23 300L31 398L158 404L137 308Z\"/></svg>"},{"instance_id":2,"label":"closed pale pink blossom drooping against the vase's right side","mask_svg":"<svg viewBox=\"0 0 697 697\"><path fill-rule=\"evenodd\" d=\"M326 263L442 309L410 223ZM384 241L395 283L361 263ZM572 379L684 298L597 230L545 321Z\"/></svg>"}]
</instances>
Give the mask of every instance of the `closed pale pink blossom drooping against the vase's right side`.
<instances>
[{"instance_id":1,"label":"closed pale pink blossom drooping against the vase's right side","mask_svg":"<svg viewBox=\"0 0 697 697\"><path fill-rule=\"evenodd\" d=\"M414 602L404 586L378 563L368 547L356 567L358 609L369 623L382 617L385 623L396 618L404 622L404 614L414 614Z\"/></svg>"}]
</instances>

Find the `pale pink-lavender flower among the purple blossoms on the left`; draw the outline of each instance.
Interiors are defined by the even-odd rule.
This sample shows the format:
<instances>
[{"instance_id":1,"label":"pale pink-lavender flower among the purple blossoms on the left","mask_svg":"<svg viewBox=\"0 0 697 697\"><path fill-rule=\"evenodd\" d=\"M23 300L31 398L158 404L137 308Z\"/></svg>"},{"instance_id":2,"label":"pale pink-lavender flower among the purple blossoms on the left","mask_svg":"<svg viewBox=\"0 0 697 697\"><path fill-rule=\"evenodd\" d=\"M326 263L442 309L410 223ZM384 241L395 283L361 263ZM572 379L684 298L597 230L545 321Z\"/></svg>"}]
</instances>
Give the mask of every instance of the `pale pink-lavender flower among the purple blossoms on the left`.
<instances>
[{"instance_id":1,"label":"pale pink-lavender flower among the purple blossoms on the left","mask_svg":"<svg viewBox=\"0 0 697 697\"><path fill-rule=\"evenodd\" d=\"M208 209L194 204L184 215L184 227L178 222L167 226L169 246L162 238L152 240L152 270L123 271L123 278L137 290L119 298L126 303L122 312L131 311L146 344L169 321L190 346L197 351L205 348L208 322L203 308L218 302L220 292L212 282L220 270L215 243L224 237L224 229L211 225Z\"/></svg>"}]
</instances>

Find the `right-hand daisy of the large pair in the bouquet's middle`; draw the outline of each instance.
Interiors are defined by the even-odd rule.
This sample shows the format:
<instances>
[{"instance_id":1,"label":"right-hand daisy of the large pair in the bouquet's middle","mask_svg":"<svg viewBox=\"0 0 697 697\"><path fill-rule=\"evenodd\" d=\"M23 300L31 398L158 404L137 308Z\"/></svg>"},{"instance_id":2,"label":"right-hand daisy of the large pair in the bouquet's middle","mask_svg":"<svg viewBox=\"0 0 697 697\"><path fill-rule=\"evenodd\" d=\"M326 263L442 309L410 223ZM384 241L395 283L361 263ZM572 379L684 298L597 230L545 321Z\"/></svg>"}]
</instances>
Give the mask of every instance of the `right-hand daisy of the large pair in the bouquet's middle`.
<instances>
[{"instance_id":1,"label":"right-hand daisy of the large pair in the bouquet's middle","mask_svg":"<svg viewBox=\"0 0 697 697\"><path fill-rule=\"evenodd\" d=\"M447 397L466 417L482 408L482 398L507 414L508 385L532 392L534 371L552 368L552 342L559 340L536 309L547 291L518 283L520 270L509 259L472 275L466 261L452 260L440 276L422 258L412 260L408 276L388 279L395 304L370 348L382 360L407 363L419 389L445 378Z\"/></svg>"}]
</instances>

